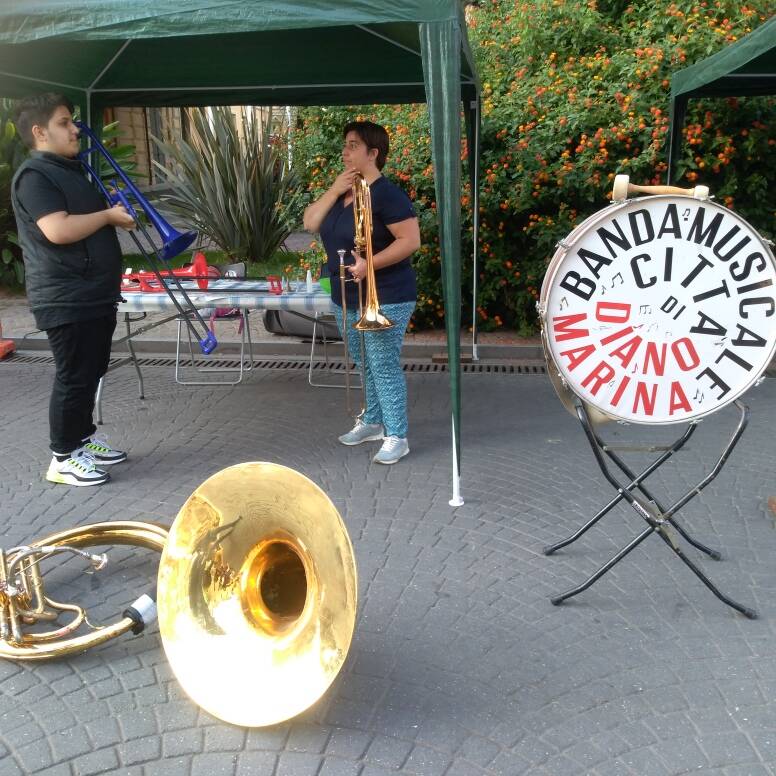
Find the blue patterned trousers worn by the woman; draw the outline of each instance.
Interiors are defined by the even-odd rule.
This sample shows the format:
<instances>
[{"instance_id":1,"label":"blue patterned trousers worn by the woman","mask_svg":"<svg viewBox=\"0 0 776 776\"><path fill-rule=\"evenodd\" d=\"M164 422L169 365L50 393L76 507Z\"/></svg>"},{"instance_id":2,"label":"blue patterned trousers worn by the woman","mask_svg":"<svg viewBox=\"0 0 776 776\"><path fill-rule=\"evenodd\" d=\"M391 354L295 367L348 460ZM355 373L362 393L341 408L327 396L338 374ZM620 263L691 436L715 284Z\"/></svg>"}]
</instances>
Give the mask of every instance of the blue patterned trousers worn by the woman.
<instances>
[{"instance_id":1,"label":"blue patterned trousers worn by the woman","mask_svg":"<svg viewBox=\"0 0 776 776\"><path fill-rule=\"evenodd\" d=\"M404 333L415 310L415 302L381 305L394 322L391 329L364 332L366 356L366 414L364 423L381 423L386 436L407 436L407 380L401 368ZM348 308L348 349L361 368L361 333L354 327L357 310ZM334 306L337 326L342 334L342 308Z\"/></svg>"}]
</instances>

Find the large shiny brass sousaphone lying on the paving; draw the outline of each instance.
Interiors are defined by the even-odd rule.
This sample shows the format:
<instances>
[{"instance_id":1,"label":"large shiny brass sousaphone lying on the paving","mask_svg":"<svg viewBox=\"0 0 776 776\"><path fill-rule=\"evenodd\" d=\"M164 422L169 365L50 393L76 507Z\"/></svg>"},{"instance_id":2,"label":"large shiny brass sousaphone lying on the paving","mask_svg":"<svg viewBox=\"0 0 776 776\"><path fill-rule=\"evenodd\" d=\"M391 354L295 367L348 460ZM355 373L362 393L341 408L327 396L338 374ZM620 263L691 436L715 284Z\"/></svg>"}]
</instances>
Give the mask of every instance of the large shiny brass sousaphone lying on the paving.
<instances>
[{"instance_id":1,"label":"large shiny brass sousaphone lying on the paving","mask_svg":"<svg viewBox=\"0 0 776 776\"><path fill-rule=\"evenodd\" d=\"M141 596L112 625L44 590L40 563L126 544L161 552L157 601ZM345 661L357 602L353 547L328 496L293 469L243 463L217 472L169 530L131 521L77 526L0 550L0 657L45 660L82 652L153 621L173 673L203 709L246 727L290 719L318 700ZM32 626L69 623L47 631ZM93 630L75 635L82 624Z\"/></svg>"}]
</instances>

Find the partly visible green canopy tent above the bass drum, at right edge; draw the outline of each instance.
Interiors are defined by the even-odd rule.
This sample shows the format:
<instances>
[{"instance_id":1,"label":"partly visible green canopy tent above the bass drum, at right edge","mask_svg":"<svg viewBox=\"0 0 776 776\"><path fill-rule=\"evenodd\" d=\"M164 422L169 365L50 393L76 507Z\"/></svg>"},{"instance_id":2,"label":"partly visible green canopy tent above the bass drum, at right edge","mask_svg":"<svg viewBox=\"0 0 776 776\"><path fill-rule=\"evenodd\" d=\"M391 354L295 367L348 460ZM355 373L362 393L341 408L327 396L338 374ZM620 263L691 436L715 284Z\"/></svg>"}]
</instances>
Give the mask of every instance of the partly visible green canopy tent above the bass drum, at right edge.
<instances>
[{"instance_id":1,"label":"partly visible green canopy tent above the bass drum, at right edge","mask_svg":"<svg viewBox=\"0 0 776 776\"><path fill-rule=\"evenodd\" d=\"M668 182L682 147L687 102L693 97L754 97L776 94L776 16L745 37L671 79Z\"/></svg>"}]
</instances>

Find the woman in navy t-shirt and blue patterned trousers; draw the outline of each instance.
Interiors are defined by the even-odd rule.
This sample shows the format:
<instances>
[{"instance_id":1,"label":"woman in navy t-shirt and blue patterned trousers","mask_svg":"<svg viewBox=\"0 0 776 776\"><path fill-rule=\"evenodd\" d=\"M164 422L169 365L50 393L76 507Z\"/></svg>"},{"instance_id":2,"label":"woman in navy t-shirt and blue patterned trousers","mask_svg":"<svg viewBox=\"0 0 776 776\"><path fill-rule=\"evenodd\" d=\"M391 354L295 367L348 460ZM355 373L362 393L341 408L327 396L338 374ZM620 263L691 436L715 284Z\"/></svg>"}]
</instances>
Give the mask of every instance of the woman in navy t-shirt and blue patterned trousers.
<instances>
[{"instance_id":1,"label":"woman in navy t-shirt and blue patterned trousers","mask_svg":"<svg viewBox=\"0 0 776 776\"><path fill-rule=\"evenodd\" d=\"M304 213L304 226L320 232L332 276L331 297L340 332L347 325L350 356L361 367L363 333L365 412L355 426L339 437L344 445L383 439L376 463L393 464L409 453L407 442L407 383L400 356L404 333L415 309L417 291L410 257L420 247L420 228L409 197L381 170L388 156L388 133L371 121L353 121L342 132L345 169L331 187ZM366 285L366 256L355 249L354 182L363 176L369 185L372 214L372 259L380 307L393 326L360 332L358 285ZM352 263L346 270L354 282L345 284L347 322L343 321L342 290L336 278L341 251ZM345 337L343 336L343 339Z\"/></svg>"}]
</instances>

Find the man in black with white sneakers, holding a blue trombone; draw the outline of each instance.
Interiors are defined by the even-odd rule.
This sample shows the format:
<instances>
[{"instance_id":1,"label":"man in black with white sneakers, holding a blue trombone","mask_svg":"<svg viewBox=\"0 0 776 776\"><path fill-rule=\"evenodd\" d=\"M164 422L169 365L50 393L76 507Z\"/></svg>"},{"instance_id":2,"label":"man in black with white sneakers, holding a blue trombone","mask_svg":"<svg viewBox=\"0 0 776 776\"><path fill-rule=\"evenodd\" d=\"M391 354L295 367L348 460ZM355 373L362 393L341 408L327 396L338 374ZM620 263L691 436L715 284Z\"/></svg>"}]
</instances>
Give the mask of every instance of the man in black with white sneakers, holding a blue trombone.
<instances>
[{"instance_id":1,"label":"man in black with white sneakers, holding a blue trombone","mask_svg":"<svg viewBox=\"0 0 776 776\"><path fill-rule=\"evenodd\" d=\"M59 94L22 100L16 127L31 149L11 183L27 297L56 364L49 403L50 482L101 485L101 467L127 454L96 437L95 394L110 359L120 299L116 227L132 229L122 205L106 208L78 159L73 105Z\"/></svg>"}]
</instances>

